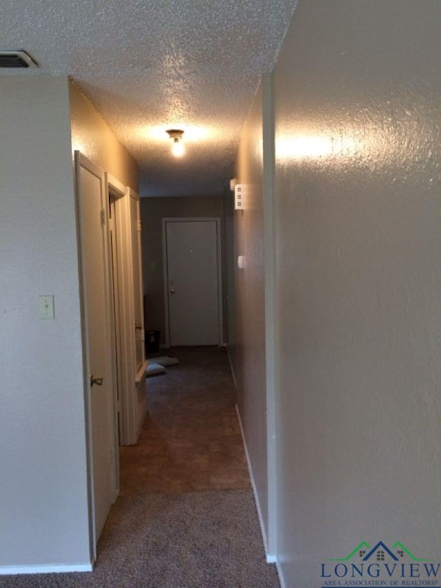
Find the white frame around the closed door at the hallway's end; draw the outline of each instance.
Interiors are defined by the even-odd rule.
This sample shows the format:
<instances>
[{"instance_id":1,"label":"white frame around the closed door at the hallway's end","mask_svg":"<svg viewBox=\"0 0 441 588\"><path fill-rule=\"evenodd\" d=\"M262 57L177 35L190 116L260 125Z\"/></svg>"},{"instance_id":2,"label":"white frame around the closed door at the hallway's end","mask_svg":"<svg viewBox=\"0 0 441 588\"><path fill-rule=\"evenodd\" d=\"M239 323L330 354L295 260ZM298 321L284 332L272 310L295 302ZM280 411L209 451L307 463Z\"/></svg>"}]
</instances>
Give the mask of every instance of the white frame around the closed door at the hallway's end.
<instances>
[{"instance_id":1,"label":"white frame around the closed door at the hallway's end","mask_svg":"<svg viewBox=\"0 0 441 588\"><path fill-rule=\"evenodd\" d=\"M222 233L220 217L164 217L163 218L163 277L164 277L164 312L165 312L165 347L170 347L170 297L168 291L168 257L167 257L167 222L216 222L217 235L217 270L218 270L218 346L224 345L223 339L223 286L222 286Z\"/></svg>"}]
</instances>

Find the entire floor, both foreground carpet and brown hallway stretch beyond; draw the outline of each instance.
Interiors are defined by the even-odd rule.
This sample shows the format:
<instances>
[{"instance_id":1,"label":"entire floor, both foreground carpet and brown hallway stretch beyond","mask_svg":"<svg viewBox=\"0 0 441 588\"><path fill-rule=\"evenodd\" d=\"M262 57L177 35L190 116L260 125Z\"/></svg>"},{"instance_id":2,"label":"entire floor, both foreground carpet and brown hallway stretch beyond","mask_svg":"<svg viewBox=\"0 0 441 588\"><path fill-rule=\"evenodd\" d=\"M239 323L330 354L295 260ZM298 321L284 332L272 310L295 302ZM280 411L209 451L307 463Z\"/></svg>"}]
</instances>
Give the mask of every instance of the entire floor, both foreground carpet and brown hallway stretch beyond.
<instances>
[{"instance_id":1,"label":"entire floor, both foreground carpet and brown hallway stretch beyond","mask_svg":"<svg viewBox=\"0 0 441 588\"><path fill-rule=\"evenodd\" d=\"M92 574L0 576L0 587L278 588L265 562L225 348L175 348L147 379L138 445ZM159 354L158 354L159 355Z\"/></svg>"}]
</instances>

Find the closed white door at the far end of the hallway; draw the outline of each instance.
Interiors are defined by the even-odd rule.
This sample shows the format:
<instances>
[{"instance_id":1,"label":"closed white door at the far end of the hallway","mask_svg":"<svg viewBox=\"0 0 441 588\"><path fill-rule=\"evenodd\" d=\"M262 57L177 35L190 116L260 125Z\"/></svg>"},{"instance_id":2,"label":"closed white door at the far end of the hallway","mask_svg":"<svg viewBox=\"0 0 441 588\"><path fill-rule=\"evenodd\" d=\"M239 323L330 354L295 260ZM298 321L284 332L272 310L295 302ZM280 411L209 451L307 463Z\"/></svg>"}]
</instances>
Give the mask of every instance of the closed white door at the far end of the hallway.
<instances>
[{"instance_id":1,"label":"closed white door at the far end of the hallway","mask_svg":"<svg viewBox=\"0 0 441 588\"><path fill-rule=\"evenodd\" d=\"M218 219L165 219L170 345L220 343Z\"/></svg>"}]
</instances>

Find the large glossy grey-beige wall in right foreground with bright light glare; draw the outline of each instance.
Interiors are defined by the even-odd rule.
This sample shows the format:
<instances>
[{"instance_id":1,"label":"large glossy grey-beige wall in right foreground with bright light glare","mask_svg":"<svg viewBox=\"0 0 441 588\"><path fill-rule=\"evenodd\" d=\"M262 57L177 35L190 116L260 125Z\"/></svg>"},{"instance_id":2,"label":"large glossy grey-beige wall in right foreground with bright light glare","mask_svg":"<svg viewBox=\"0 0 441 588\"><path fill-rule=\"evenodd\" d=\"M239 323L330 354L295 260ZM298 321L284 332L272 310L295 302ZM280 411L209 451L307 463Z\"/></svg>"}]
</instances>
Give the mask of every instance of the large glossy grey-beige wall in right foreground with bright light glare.
<instances>
[{"instance_id":1,"label":"large glossy grey-beige wall in right foreground with bright light glare","mask_svg":"<svg viewBox=\"0 0 441 588\"><path fill-rule=\"evenodd\" d=\"M275 71L287 587L362 540L441 559L441 4L300 0Z\"/></svg>"}]
</instances>

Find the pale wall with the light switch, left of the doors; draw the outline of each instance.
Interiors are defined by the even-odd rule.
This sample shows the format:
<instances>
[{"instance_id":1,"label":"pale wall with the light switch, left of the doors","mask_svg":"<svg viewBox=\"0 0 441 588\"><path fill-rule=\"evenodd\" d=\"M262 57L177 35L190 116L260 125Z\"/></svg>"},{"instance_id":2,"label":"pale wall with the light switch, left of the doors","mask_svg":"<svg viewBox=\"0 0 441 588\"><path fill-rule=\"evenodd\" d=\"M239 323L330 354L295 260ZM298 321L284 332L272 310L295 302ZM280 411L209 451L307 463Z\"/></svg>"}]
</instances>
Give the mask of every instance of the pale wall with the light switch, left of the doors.
<instances>
[{"instance_id":1,"label":"pale wall with the light switch, left of the doors","mask_svg":"<svg viewBox=\"0 0 441 588\"><path fill-rule=\"evenodd\" d=\"M68 79L2 77L0 94L0 566L88 564Z\"/></svg>"}]
</instances>

